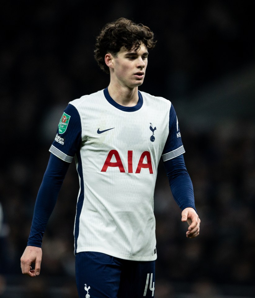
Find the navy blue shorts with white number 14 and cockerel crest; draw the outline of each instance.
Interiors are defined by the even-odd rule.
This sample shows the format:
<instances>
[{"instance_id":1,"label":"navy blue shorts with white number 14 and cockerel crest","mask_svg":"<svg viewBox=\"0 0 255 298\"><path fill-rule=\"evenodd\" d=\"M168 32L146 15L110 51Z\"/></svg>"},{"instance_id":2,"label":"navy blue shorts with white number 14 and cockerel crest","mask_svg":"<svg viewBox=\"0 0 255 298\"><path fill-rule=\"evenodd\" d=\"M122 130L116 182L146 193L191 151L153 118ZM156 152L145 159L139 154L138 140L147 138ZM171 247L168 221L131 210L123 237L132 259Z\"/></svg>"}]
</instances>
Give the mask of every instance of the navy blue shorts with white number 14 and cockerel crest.
<instances>
[{"instance_id":1,"label":"navy blue shorts with white number 14 and cockerel crest","mask_svg":"<svg viewBox=\"0 0 255 298\"><path fill-rule=\"evenodd\" d=\"M129 261L79 252L75 272L80 298L154 297L155 261Z\"/></svg>"}]
</instances>

